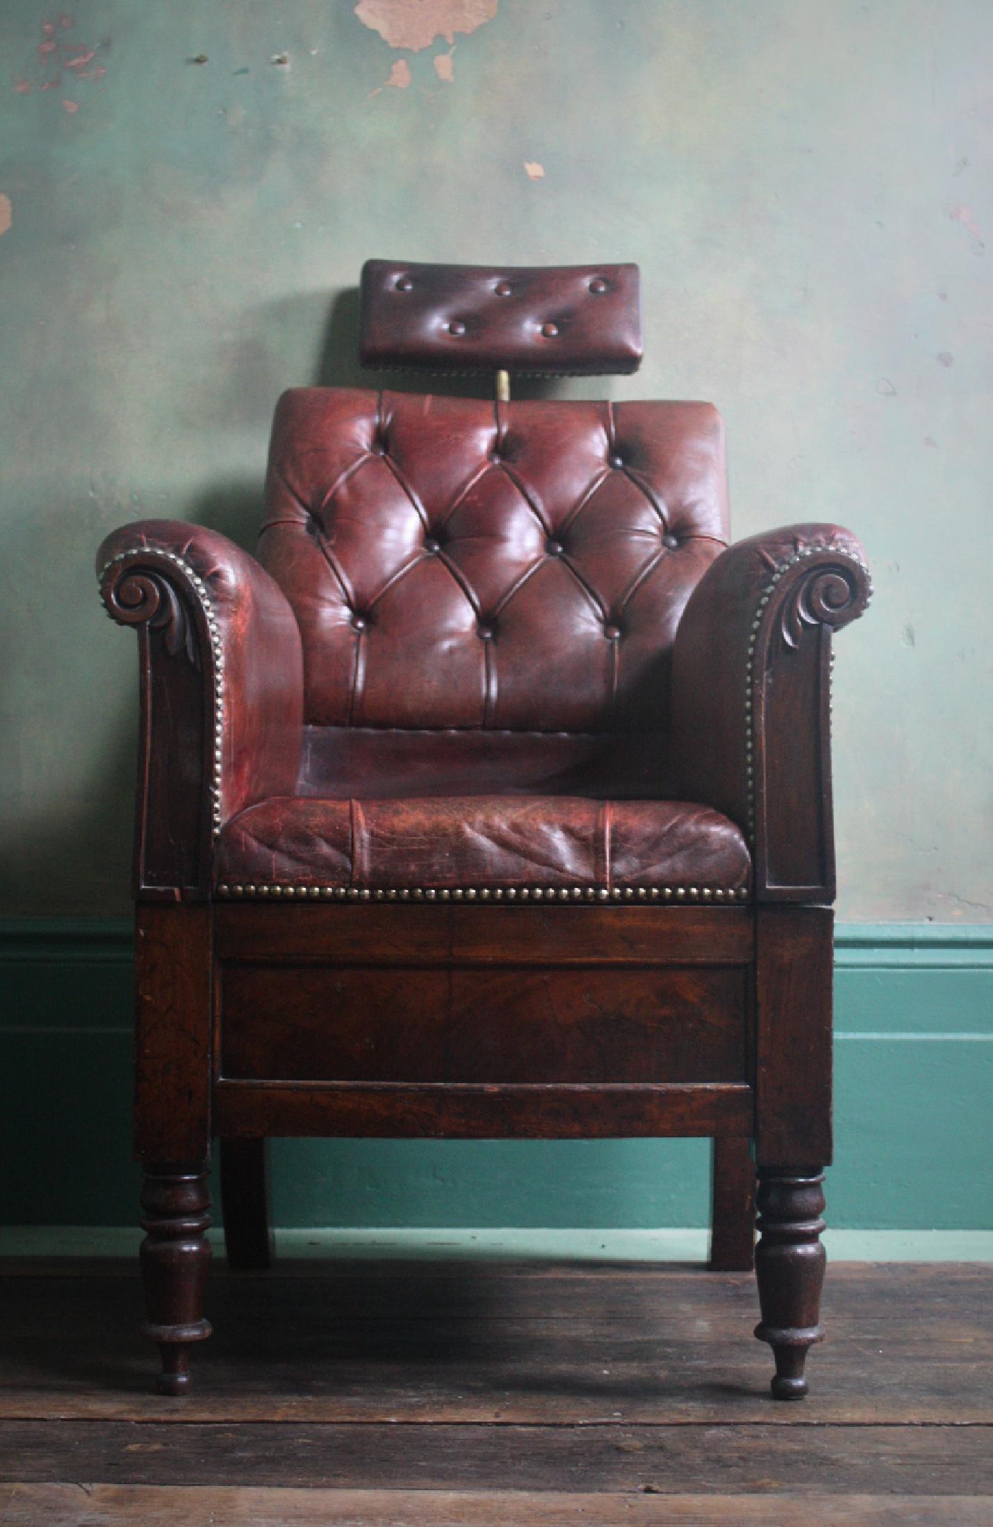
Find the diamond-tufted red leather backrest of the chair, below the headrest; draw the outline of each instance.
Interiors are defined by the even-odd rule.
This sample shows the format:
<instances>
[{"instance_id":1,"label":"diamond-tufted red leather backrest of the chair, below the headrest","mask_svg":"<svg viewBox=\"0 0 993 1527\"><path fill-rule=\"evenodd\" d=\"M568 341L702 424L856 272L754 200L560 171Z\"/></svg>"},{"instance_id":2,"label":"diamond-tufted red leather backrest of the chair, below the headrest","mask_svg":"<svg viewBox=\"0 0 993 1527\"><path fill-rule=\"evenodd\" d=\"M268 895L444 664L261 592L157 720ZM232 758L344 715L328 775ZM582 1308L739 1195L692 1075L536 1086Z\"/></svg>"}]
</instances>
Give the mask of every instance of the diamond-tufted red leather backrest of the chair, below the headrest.
<instances>
[{"instance_id":1,"label":"diamond-tufted red leather backrest of the chair, below the headrest","mask_svg":"<svg viewBox=\"0 0 993 1527\"><path fill-rule=\"evenodd\" d=\"M665 727L681 611L727 541L707 403L299 388L260 559L313 727Z\"/></svg>"}]
</instances>

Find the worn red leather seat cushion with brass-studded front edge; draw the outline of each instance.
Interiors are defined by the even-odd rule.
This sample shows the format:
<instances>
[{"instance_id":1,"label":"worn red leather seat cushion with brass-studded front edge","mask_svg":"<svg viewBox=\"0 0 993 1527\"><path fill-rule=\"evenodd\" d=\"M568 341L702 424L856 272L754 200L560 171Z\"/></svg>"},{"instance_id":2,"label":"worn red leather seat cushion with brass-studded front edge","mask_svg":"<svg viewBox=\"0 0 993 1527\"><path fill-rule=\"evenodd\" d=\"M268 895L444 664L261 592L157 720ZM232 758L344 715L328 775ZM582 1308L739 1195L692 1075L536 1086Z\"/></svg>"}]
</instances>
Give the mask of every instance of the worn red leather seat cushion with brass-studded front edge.
<instances>
[{"instance_id":1,"label":"worn red leather seat cushion with brass-studded front edge","mask_svg":"<svg viewBox=\"0 0 993 1527\"><path fill-rule=\"evenodd\" d=\"M750 876L739 828L716 811L579 796L281 796L228 823L215 866L222 895L530 887L723 901L747 895Z\"/></svg>"}]
</instances>

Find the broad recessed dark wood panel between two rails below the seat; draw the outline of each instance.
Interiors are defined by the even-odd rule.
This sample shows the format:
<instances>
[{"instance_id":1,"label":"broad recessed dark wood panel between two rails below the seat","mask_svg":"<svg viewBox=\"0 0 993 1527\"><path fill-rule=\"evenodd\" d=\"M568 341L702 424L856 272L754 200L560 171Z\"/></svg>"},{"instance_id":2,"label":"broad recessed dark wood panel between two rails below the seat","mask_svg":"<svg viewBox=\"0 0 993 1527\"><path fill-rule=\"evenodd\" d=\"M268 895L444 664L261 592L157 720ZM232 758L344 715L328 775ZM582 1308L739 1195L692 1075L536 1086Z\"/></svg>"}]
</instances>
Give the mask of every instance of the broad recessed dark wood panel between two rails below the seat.
<instances>
[{"instance_id":1,"label":"broad recessed dark wood panel between two rails below the seat","mask_svg":"<svg viewBox=\"0 0 993 1527\"><path fill-rule=\"evenodd\" d=\"M226 967L222 1073L287 1081L746 1080L746 971Z\"/></svg>"}]
</instances>

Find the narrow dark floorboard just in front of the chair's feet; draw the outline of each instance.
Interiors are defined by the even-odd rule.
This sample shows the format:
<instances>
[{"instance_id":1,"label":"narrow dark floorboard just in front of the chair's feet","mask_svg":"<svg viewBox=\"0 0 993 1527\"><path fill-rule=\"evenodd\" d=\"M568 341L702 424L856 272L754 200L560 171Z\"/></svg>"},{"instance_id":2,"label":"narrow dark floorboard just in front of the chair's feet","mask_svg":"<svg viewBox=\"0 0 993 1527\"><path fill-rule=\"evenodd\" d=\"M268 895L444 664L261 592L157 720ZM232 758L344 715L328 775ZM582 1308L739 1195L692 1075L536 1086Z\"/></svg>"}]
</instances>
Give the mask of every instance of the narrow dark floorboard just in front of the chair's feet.
<instances>
[{"instance_id":1,"label":"narrow dark floorboard just in front of the chair's feet","mask_svg":"<svg viewBox=\"0 0 993 1527\"><path fill-rule=\"evenodd\" d=\"M993 1495L987 1426L339 1426L6 1422L0 1477L118 1484Z\"/></svg>"}]
</instances>

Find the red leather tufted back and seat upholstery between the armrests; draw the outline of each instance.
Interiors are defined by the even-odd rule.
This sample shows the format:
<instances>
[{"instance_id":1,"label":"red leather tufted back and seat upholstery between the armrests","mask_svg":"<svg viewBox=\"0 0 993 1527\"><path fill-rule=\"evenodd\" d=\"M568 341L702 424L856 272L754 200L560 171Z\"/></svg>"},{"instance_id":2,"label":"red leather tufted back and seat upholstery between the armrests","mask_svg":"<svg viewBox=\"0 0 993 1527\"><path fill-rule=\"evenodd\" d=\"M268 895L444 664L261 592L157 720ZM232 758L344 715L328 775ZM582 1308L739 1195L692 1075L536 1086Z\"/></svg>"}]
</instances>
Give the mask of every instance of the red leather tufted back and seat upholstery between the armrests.
<instances>
[{"instance_id":1,"label":"red leather tufted back and seat upholstery between the armrests","mask_svg":"<svg viewBox=\"0 0 993 1527\"><path fill-rule=\"evenodd\" d=\"M287 392L260 560L302 637L301 777L228 825L222 895L744 893L739 829L665 799L723 449L703 403Z\"/></svg>"}]
</instances>

